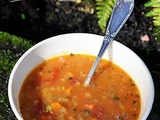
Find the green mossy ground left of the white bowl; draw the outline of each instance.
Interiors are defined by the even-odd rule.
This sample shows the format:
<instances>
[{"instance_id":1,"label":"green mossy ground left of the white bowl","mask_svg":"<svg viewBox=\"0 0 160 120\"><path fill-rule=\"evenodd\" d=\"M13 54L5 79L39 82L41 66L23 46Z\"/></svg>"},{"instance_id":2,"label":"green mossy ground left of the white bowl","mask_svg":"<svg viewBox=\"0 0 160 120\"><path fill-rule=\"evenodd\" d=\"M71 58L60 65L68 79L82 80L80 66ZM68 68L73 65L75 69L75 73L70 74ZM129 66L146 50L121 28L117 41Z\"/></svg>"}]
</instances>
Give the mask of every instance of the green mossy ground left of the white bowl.
<instances>
[{"instance_id":1,"label":"green mossy ground left of the white bowl","mask_svg":"<svg viewBox=\"0 0 160 120\"><path fill-rule=\"evenodd\" d=\"M8 100L8 80L17 60L31 46L30 40L0 32L0 120L15 118Z\"/></svg>"}]
</instances>

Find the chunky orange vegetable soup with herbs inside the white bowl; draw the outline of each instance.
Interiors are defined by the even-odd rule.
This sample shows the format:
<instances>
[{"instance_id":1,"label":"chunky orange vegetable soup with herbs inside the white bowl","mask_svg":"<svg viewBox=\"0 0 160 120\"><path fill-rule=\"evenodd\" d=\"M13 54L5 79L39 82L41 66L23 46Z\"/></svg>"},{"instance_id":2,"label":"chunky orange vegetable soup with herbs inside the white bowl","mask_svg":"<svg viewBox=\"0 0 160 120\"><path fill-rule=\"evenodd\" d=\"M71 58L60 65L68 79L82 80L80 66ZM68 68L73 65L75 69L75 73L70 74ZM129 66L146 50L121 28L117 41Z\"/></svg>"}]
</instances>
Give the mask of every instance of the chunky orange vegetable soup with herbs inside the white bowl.
<instances>
[{"instance_id":1,"label":"chunky orange vegetable soup with herbs inside the white bowl","mask_svg":"<svg viewBox=\"0 0 160 120\"><path fill-rule=\"evenodd\" d=\"M89 86L94 56L70 54L42 62L19 93L24 120L137 120L141 99L133 79L102 59Z\"/></svg>"}]
</instances>

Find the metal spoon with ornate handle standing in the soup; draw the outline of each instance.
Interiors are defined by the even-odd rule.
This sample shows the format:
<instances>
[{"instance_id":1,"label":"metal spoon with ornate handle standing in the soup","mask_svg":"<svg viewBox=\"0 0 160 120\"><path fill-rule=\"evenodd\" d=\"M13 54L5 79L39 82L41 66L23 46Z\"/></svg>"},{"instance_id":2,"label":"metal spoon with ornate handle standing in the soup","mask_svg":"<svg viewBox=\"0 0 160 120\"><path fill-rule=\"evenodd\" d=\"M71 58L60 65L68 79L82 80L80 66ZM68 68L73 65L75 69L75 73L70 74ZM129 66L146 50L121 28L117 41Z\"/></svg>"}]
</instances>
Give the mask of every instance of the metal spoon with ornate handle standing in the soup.
<instances>
[{"instance_id":1,"label":"metal spoon with ornate handle standing in the soup","mask_svg":"<svg viewBox=\"0 0 160 120\"><path fill-rule=\"evenodd\" d=\"M89 85L90 80L93 76L93 73L99 64L101 57L103 56L108 45L113 41L119 30L122 28L124 23L127 21L129 16L131 15L134 8L134 0L117 0L111 18L109 20L109 24L106 29L106 34L103 39L102 46L98 53L98 56L93 63L93 66L84 82L85 85Z\"/></svg>"}]
</instances>

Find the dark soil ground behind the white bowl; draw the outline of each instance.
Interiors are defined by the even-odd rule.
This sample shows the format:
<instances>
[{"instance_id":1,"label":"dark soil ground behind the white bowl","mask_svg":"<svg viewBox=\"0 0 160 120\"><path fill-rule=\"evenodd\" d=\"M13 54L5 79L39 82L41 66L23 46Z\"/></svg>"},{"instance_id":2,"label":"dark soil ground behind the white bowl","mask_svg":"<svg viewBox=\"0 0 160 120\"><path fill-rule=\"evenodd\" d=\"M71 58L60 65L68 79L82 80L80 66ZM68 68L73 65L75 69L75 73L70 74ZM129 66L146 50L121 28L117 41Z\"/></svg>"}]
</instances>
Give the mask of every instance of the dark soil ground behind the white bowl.
<instances>
[{"instance_id":1,"label":"dark soil ground behind the white bowl","mask_svg":"<svg viewBox=\"0 0 160 120\"><path fill-rule=\"evenodd\" d=\"M115 39L131 48L148 66L155 83L155 102L148 120L160 120L160 42L154 35L152 18L145 17L149 11L143 6L145 2L135 0L131 17ZM79 7L73 2L53 0L0 0L0 31L30 39L33 43L64 33L103 35L96 14L79 11ZM144 35L149 41L142 40Z\"/></svg>"}]
</instances>

